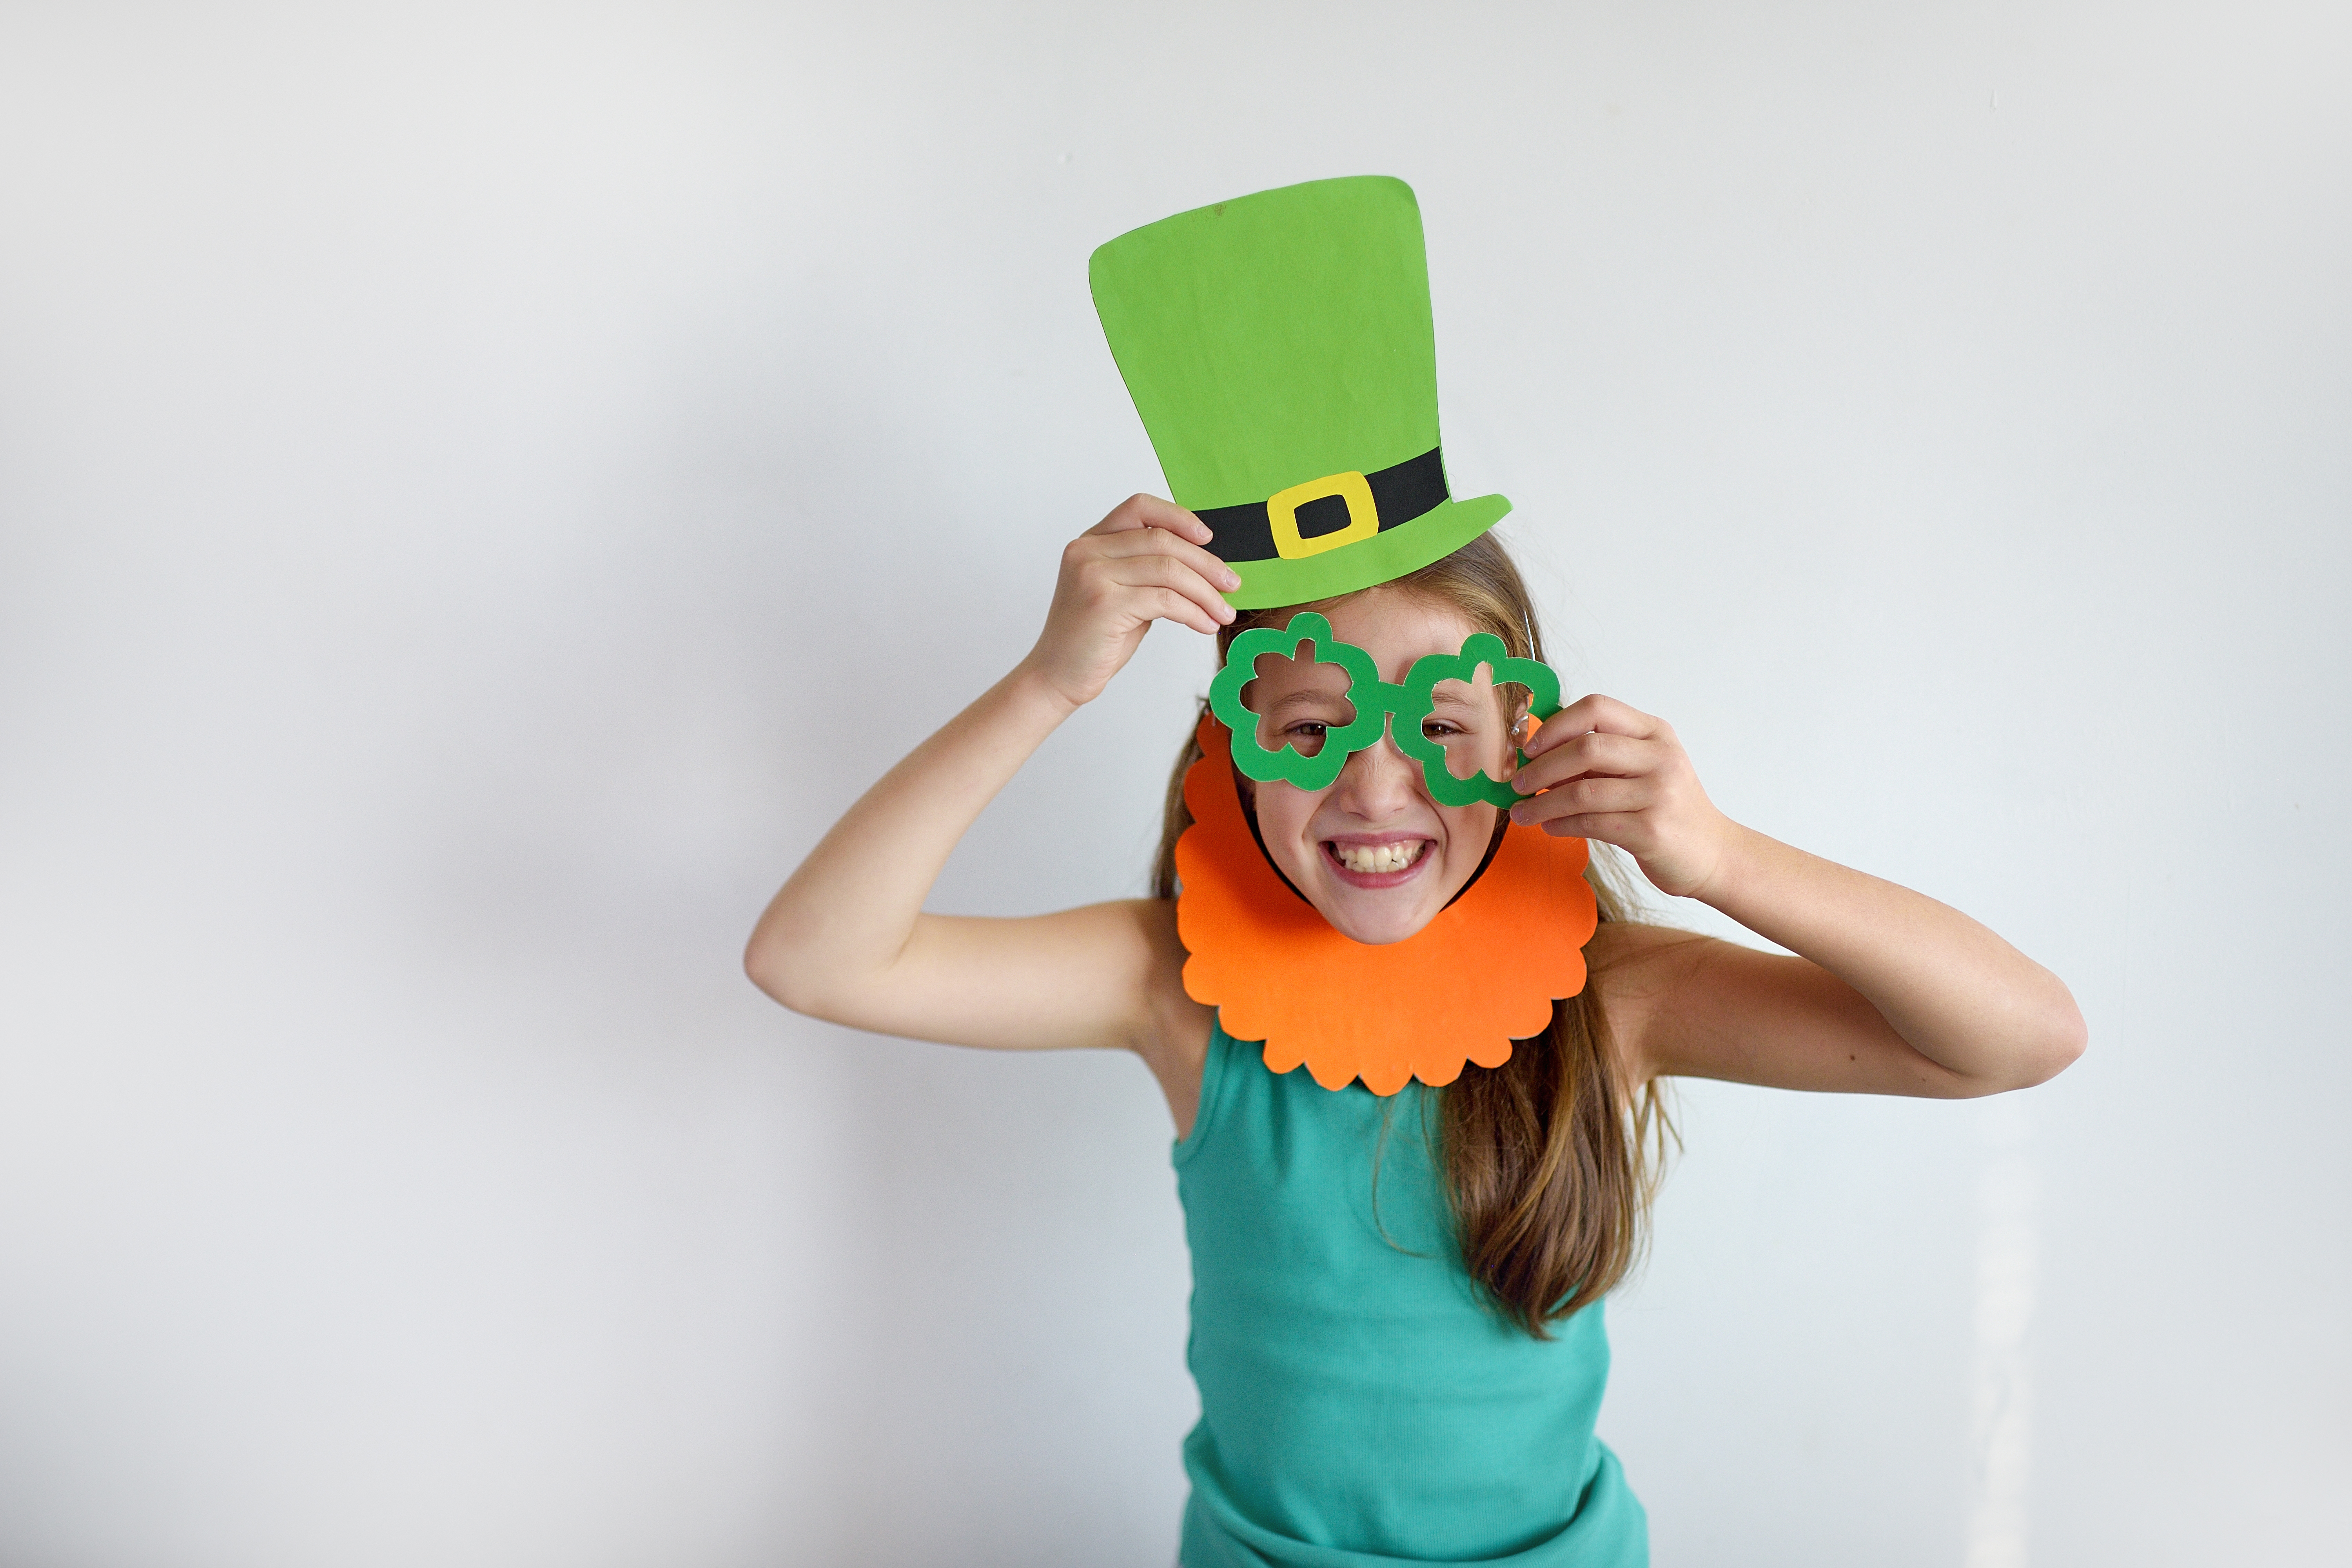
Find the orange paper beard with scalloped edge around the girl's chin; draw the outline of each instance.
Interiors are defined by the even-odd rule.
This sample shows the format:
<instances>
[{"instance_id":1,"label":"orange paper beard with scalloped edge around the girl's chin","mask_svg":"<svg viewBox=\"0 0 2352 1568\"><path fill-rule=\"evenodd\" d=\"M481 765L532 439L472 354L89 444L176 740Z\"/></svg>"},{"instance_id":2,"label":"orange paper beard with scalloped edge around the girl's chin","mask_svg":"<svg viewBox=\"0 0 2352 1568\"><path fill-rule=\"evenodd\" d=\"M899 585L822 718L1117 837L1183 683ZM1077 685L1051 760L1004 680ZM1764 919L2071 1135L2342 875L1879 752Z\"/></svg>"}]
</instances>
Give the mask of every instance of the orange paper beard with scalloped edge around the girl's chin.
<instances>
[{"instance_id":1,"label":"orange paper beard with scalloped edge around the girl's chin","mask_svg":"<svg viewBox=\"0 0 2352 1568\"><path fill-rule=\"evenodd\" d=\"M1437 919L1378 947L1341 936L1265 863L1232 785L1230 736L1200 722L1202 757L1183 780L1192 825L1176 839L1176 936L1185 994L1216 1009L1232 1039L1263 1039L1265 1065L1305 1063L1324 1088L1364 1079L1392 1095L1442 1086L1463 1063L1501 1067L1510 1041L1585 987L1599 912L1583 839L1503 832L1470 891ZM1385 745L1385 741L1381 743Z\"/></svg>"}]
</instances>

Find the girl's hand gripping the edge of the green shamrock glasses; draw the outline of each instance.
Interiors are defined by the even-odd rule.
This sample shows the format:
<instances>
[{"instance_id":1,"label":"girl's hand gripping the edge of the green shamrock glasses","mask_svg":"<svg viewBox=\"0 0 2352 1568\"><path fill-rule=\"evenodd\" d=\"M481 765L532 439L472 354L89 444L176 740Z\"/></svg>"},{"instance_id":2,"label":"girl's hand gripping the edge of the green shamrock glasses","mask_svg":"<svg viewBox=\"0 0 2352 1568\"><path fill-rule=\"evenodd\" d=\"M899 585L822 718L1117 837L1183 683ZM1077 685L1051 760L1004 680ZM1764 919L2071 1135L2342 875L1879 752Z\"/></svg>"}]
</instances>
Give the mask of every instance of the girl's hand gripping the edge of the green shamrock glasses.
<instances>
[{"instance_id":1,"label":"girl's hand gripping the edge of the green shamrock glasses","mask_svg":"<svg viewBox=\"0 0 2352 1568\"><path fill-rule=\"evenodd\" d=\"M1661 893L1703 898L1738 825L1698 788L1675 726L1599 693L1555 712L1512 776L1515 823L1630 853ZM1543 795L1536 795L1543 790Z\"/></svg>"}]
</instances>

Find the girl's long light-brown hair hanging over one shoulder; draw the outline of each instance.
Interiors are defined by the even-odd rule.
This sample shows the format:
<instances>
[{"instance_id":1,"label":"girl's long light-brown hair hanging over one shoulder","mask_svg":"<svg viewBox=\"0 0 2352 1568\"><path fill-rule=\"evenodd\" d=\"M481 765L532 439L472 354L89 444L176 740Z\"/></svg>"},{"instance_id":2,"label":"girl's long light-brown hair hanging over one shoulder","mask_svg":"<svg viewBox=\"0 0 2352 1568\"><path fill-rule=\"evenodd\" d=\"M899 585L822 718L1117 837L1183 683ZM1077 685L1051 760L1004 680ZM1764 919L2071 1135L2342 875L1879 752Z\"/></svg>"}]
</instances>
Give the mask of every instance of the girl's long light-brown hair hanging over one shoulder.
<instances>
[{"instance_id":1,"label":"girl's long light-brown hair hanging over one shoulder","mask_svg":"<svg viewBox=\"0 0 2352 1568\"><path fill-rule=\"evenodd\" d=\"M1543 632L1519 567L1494 534L1385 585L1458 609L1494 632L1512 658L1543 658ZM1296 609L1235 616L1218 658L1251 625L1284 623ZM1183 776L1200 759L1185 741L1169 778L1152 896L1176 896L1176 837L1192 825ZM1240 785L1240 780L1235 780ZM1613 863L1595 849L1585 882L1604 922L1637 905ZM1609 1039L1597 976L1552 1004L1552 1023L1512 1046L1501 1067L1463 1067L1442 1095L1439 1145L1463 1265L1494 1307L1538 1340L1550 1324L1616 1288L1642 1255L1649 1199L1675 1135L1656 1084L1628 1084Z\"/></svg>"}]
</instances>

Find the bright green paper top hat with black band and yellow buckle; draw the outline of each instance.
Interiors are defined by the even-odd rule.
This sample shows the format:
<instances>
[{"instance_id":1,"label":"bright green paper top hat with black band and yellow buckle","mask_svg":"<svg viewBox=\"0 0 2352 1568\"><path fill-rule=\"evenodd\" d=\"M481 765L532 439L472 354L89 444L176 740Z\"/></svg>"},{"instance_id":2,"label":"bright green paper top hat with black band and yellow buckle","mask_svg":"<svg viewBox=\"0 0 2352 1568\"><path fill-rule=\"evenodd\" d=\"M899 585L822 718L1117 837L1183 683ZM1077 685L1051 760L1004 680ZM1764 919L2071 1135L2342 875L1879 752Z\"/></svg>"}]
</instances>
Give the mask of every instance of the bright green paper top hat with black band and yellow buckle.
<instances>
[{"instance_id":1,"label":"bright green paper top hat with black band and yellow buckle","mask_svg":"<svg viewBox=\"0 0 2352 1568\"><path fill-rule=\"evenodd\" d=\"M1305 604L1451 555L1510 501L1454 501L1421 207L1364 174L1178 212L1087 263L1110 357L1216 531L1235 609Z\"/></svg>"}]
</instances>

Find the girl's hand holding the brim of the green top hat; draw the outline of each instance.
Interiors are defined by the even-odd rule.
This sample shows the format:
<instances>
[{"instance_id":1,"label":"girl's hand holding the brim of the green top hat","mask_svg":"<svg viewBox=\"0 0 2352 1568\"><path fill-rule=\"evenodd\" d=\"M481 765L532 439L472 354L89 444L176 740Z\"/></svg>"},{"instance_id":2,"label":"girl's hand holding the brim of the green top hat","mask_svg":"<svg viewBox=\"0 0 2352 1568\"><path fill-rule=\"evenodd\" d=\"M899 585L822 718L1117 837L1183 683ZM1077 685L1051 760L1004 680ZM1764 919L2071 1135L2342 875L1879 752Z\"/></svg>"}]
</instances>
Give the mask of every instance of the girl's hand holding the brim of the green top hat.
<instances>
[{"instance_id":1,"label":"girl's hand holding the brim of the green top hat","mask_svg":"<svg viewBox=\"0 0 2352 1568\"><path fill-rule=\"evenodd\" d=\"M1091 703L1134 656L1152 621L1216 635L1242 585L1209 555L1209 524L1174 501L1129 496L1061 552L1061 581L1037 646L1021 661L1061 701Z\"/></svg>"}]
</instances>

